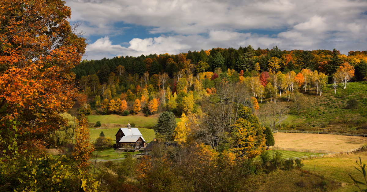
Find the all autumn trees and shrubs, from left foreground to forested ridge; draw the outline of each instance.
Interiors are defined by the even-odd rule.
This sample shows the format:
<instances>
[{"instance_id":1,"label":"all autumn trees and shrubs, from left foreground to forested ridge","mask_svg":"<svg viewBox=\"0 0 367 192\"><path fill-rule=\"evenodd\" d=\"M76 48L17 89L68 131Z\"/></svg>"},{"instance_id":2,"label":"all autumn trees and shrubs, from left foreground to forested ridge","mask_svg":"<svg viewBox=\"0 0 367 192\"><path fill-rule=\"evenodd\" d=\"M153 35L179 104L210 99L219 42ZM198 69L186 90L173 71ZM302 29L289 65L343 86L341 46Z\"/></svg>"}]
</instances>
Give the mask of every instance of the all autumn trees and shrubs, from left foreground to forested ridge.
<instances>
[{"instance_id":1,"label":"all autumn trees and shrubs, from left foreground to forested ridge","mask_svg":"<svg viewBox=\"0 0 367 192\"><path fill-rule=\"evenodd\" d=\"M265 151L284 102L300 113L303 93L322 97L329 83L336 94L367 75L366 51L335 49L248 46L81 61L86 39L64 1L0 7L0 191L256 191L259 177L304 173L300 160ZM111 139L89 141L90 114L159 114L150 155L128 153L96 169L91 154ZM310 191L335 187L306 174Z\"/></svg>"}]
</instances>

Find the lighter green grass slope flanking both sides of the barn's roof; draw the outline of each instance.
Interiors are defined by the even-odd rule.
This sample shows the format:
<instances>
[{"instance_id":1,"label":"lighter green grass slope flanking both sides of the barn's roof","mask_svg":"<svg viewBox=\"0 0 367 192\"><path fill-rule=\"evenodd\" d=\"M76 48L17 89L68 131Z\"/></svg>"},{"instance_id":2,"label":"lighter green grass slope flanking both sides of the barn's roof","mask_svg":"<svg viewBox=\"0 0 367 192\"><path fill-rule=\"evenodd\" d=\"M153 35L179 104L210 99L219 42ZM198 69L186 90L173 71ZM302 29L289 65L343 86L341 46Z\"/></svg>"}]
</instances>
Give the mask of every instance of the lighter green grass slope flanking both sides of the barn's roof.
<instances>
[{"instance_id":1,"label":"lighter green grass slope flanking both sides of the barn's roof","mask_svg":"<svg viewBox=\"0 0 367 192\"><path fill-rule=\"evenodd\" d=\"M105 134L105 137L110 137L112 139L116 139L116 133L119 131L120 127L117 128L93 128L89 130L90 138L98 138L101 131ZM149 128L139 128L140 133L143 135L145 141L152 141L156 136L153 129Z\"/></svg>"}]
</instances>

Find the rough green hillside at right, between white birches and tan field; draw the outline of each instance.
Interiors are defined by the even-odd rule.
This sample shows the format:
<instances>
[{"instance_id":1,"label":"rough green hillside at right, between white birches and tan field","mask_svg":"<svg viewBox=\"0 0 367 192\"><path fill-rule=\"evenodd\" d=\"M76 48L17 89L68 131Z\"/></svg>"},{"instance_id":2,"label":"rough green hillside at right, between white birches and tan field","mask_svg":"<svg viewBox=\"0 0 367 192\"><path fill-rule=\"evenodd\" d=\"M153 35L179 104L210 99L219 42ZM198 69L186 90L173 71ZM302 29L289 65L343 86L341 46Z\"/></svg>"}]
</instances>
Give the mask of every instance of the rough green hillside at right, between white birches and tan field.
<instances>
[{"instance_id":1,"label":"rough green hillside at right, between white birches and tan field","mask_svg":"<svg viewBox=\"0 0 367 192\"><path fill-rule=\"evenodd\" d=\"M315 90L300 92L308 98L308 106L301 109L299 115L293 101L286 102L285 97L277 99L277 102L283 102L289 109L288 117L282 121L280 129L367 134L367 82L351 82L346 89L338 86L336 94L332 85L328 84L322 96L317 97ZM357 100L357 109L347 108L352 98ZM263 99L260 108L268 100L270 98Z\"/></svg>"}]
</instances>

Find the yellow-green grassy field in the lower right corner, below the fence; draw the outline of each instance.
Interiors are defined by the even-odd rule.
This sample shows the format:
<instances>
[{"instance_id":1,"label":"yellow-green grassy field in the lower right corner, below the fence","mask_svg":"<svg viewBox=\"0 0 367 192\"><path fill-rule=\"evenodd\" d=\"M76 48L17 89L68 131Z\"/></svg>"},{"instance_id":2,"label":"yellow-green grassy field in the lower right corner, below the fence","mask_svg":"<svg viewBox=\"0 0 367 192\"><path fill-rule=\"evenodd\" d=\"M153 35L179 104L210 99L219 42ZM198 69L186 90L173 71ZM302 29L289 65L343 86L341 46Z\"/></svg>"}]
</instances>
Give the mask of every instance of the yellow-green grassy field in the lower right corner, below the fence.
<instances>
[{"instance_id":1,"label":"yellow-green grassy field in the lower right corner, below the fence","mask_svg":"<svg viewBox=\"0 0 367 192\"><path fill-rule=\"evenodd\" d=\"M356 160L359 161L359 157L362 159L362 164L367 163L367 152L364 151L303 160L305 166L302 169L348 184L335 190L335 192L355 191L358 188L353 185L348 173L351 173L358 181L364 181L363 174L354 168L354 166L357 166ZM366 186L364 189L366 189Z\"/></svg>"}]
</instances>

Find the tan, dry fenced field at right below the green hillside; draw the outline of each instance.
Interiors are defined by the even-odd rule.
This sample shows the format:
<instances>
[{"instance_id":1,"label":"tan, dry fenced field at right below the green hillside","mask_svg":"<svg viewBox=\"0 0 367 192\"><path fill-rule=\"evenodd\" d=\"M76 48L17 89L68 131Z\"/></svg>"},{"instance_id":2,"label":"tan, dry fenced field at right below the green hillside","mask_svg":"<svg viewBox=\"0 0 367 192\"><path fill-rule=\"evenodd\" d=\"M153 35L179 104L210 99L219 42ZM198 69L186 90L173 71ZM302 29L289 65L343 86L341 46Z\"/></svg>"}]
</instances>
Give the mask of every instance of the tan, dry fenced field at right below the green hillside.
<instances>
[{"instance_id":1,"label":"tan, dry fenced field at right below the green hillside","mask_svg":"<svg viewBox=\"0 0 367 192\"><path fill-rule=\"evenodd\" d=\"M347 151L367 143L367 137L328 134L274 133L275 146L295 149Z\"/></svg>"}]
</instances>

